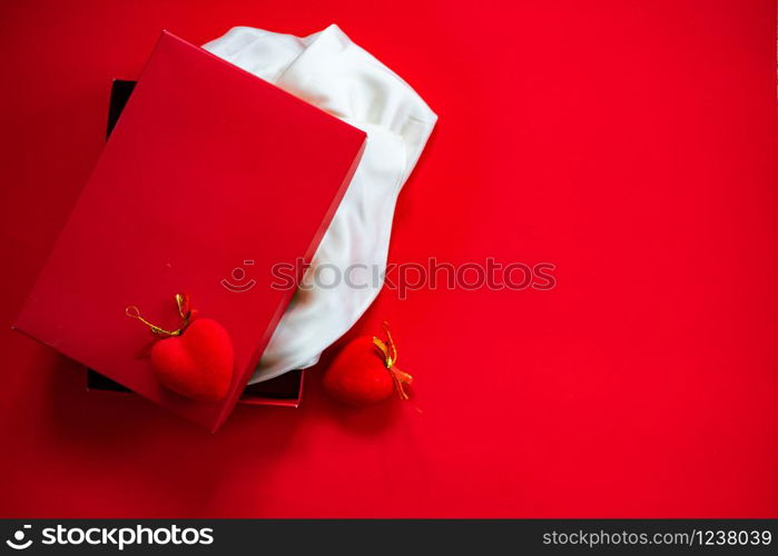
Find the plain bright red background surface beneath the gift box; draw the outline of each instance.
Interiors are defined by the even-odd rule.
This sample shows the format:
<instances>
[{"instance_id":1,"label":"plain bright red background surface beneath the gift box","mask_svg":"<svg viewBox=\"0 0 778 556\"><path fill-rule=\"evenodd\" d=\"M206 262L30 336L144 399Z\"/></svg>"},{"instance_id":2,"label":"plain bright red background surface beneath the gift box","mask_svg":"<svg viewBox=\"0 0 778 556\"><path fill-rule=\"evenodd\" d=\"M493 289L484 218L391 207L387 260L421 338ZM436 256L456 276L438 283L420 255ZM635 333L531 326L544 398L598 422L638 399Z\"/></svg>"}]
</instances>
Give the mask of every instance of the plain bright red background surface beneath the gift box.
<instances>
[{"instance_id":1,"label":"plain bright red background surface beneath the gift box","mask_svg":"<svg viewBox=\"0 0 778 556\"><path fill-rule=\"evenodd\" d=\"M337 22L441 116L391 260L558 280L384 291L355 334L391 321L414 401L355 413L311 373L215 436L3 331L2 515L778 516L775 2L479 7L2 3L6 322L163 27Z\"/></svg>"}]
</instances>

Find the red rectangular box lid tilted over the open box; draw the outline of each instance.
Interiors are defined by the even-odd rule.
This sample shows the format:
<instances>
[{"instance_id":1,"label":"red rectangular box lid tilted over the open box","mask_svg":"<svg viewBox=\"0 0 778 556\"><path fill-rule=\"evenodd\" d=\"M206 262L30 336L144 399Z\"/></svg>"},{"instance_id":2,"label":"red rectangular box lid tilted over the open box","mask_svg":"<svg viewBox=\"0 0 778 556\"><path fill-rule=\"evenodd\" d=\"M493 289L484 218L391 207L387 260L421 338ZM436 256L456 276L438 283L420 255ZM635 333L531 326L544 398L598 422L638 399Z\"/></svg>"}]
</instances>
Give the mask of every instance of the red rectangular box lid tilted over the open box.
<instances>
[{"instance_id":1,"label":"red rectangular box lid tilted over the open box","mask_svg":"<svg viewBox=\"0 0 778 556\"><path fill-rule=\"evenodd\" d=\"M17 328L160 406L215 430L234 408L356 169L365 135L262 79L163 32ZM221 280L247 267L254 287ZM149 331L176 328L186 292L235 350L226 398L163 387Z\"/></svg>"}]
</instances>

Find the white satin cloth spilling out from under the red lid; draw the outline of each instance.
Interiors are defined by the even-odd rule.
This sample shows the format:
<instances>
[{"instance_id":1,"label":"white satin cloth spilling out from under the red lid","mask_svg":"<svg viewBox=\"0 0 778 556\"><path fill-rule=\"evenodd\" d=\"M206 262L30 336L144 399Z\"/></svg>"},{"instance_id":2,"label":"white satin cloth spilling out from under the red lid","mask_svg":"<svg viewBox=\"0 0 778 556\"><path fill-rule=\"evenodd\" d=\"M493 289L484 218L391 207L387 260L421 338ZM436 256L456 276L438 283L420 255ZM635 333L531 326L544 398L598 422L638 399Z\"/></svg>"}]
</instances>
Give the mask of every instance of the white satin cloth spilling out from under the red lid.
<instances>
[{"instance_id":1,"label":"white satin cloth spilling out from under the red lid","mask_svg":"<svg viewBox=\"0 0 778 556\"><path fill-rule=\"evenodd\" d=\"M236 27L203 48L367 133L362 161L254 384L315 365L376 298L397 196L437 116L337 26L302 38Z\"/></svg>"}]
</instances>

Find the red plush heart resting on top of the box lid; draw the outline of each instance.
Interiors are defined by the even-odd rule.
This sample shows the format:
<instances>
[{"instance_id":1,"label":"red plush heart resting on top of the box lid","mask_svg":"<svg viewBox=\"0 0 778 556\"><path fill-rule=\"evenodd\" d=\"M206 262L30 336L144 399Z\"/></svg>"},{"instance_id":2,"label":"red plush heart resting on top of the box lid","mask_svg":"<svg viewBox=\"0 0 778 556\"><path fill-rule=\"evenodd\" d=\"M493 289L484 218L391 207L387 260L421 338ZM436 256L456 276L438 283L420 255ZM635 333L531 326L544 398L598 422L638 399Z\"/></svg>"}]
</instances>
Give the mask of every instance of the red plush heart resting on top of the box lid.
<instances>
[{"instance_id":1,"label":"red plush heart resting on top of the box lid","mask_svg":"<svg viewBox=\"0 0 778 556\"><path fill-rule=\"evenodd\" d=\"M173 391L201 401L218 401L233 379L233 342L216 320L199 318L184 334L158 340L151 365Z\"/></svg>"}]
</instances>

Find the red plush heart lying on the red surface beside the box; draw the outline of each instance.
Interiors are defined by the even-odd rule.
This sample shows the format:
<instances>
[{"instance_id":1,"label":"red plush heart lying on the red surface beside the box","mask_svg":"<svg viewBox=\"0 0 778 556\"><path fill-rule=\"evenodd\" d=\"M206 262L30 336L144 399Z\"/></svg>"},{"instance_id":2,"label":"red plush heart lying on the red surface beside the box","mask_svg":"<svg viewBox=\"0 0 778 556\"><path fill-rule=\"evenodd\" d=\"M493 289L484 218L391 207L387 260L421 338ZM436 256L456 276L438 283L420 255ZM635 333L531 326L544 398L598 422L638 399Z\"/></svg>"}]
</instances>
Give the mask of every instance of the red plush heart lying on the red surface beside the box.
<instances>
[{"instance_id":1,"label":"red plush heart lying on the red surface beside the box","mask_svg":"<svg viewBox=\"0 0 778 556\"><path fill-rule=\"evenodd\" d=\"M354 406L383 401L395 393L392 371L371 336L349 341L324 375L324 387L335 399Z\"/></svg>"}]
</instances>

